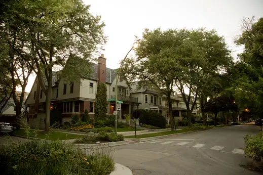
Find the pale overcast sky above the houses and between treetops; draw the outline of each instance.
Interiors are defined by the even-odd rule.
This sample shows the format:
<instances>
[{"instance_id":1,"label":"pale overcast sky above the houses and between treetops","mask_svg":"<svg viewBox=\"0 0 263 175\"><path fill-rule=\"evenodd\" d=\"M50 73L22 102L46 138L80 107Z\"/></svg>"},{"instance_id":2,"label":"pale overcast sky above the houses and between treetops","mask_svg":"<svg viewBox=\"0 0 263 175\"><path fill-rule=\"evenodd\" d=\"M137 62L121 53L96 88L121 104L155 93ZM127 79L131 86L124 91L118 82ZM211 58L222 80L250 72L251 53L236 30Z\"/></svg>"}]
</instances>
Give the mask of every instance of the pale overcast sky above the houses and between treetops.
<instances>
[{"instance_id":1,"label":"pale overcast sky above the houses and between treetops","mask_svg":"<svg viewBox=\"0 0 263 175\"><path fill-rule=\"evenodd\" d=\"M145 28L215 29L226 38L233 57L242 53L242 47L235 46L233 38L241 33L241 20L263 17L263 0L84 0L90 5L93 15L101 15L105 23L104 33L108 37L104 46L106 65L118 68L135 41ZM34 81L31 76L26 91Z\"/></svg>"}]
</instances>

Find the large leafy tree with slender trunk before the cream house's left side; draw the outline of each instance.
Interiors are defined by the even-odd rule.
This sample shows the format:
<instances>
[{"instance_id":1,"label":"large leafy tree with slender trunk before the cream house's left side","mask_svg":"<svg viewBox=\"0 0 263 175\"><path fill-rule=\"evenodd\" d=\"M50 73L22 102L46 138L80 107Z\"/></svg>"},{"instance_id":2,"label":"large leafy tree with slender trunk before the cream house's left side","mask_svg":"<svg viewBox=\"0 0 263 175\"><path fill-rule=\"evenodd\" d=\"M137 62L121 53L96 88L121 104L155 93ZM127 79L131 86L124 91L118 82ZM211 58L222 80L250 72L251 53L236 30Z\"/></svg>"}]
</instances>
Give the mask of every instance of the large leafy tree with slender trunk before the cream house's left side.
<instances>
[{"instance_id":1,"label":"large leafy tree with slender trunk before the cream house's left side","mask_svg":"<svg viewBox=\"0 0 263 175\"><path fill-rule=\"evenodd\" d=\"M20 22L23 52L30 54L22 60L34 71L46 95L45 129L49 130L53 69L64 68L61 76L68 82L89 75L92 54L105 43L104 23L81 0L19 1L13 6L13 18L10 25Z\"/></svg>"}]
</instances>

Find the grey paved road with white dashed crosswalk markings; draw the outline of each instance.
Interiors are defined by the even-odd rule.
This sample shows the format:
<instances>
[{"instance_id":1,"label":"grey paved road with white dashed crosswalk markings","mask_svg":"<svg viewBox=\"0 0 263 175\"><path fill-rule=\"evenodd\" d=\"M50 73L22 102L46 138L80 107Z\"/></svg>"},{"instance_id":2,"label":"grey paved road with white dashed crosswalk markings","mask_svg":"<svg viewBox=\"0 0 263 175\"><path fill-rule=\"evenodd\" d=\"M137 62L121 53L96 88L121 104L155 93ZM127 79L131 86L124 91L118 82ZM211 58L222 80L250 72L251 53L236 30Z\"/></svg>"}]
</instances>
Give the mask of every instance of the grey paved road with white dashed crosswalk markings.
<instances>
[{"instance_id":1,"label":"grey paved road with white dashed crosswalk markings","mask_svg":"<svg viewBox=\"0 0 263 175\"><path fill-rule=\"evenodd\" d=\"M146 174L253 175L258 172L240 167L249 162L244 156L244 136L257 134L259 127L237 125L191 134L115 147L117 163Z\"/></svg>"}]
</instances>

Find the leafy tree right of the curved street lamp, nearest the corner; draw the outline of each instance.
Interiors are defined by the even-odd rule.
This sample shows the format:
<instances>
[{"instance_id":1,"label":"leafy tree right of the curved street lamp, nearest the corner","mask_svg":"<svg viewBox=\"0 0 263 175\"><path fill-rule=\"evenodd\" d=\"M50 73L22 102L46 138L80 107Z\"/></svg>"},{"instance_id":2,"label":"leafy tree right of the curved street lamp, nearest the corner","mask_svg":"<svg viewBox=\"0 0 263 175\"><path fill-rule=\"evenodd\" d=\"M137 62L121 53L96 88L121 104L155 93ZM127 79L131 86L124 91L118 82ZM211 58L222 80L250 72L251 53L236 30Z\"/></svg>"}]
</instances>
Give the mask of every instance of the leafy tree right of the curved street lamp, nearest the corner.
<instances>
[{"instance_id":1,"label":"leafy tree right of the curved street lamp, nearest the corner","mask_svg":"<svg viewBox=\"0 0 263 175\"><path fill-rule=\"evenodd\" d=\"M136 58L129 58L122 69L127 80L138 81L139 86L148 86L152 83L161 93L166 95L171 129L174 129L172 116L171 93L173 91L176 76L180 74L183 67L179 61L185 45L185 37L189 34L187 30L145 29L142 38L138 38L139 47L136 49Z\"/></svg>"}]
</instances>

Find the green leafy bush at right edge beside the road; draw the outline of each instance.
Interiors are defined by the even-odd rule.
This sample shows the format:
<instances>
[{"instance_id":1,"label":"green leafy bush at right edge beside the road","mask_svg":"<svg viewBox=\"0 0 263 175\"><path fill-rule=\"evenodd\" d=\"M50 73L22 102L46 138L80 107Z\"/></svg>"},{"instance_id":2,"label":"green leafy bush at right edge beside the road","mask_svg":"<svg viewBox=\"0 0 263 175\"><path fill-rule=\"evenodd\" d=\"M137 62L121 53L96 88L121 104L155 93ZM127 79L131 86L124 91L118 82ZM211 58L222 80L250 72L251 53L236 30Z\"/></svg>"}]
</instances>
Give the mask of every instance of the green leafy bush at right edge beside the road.
<instances>
[{"instance_id":1,"label":"green leafy bush at right edge beside the road","mask_svg":"<svg viewBox=\"0 0 263 175\"><path fill-rule=\"evenodd\" d=\"M246 148L245 155L255 161L260 161L263 158L263 132L251 136L245 136Z\"/></svg>"}]
</instances>

